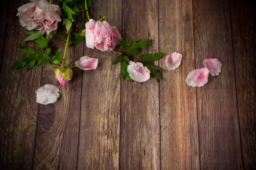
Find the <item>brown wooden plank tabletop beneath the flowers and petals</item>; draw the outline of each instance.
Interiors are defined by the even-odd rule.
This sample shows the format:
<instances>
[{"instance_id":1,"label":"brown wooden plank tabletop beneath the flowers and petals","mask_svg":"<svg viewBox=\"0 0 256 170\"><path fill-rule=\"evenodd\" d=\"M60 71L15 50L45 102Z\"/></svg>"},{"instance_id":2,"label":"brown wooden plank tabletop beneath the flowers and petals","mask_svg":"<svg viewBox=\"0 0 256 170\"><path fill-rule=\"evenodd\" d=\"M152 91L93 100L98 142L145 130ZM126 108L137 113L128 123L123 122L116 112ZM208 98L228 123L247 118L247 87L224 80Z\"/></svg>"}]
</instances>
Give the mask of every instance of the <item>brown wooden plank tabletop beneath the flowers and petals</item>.
<instances>
[{"instance_id":1,"label":"brown wooden plank tabletop beneath the flowers and petals","mask_svg":"<svg viewBox=\"0 0 256 170\"><path fill-rule=\"evenodd\" d=\"M0 169L256 168L252 1L94 0L93 18L106 15L128 41L154 40L143 54L176 51L182 63L159 83L121 81L120 65L111 66L117 54L81 42L67 59L98 58L98 68L75 68L49 105L35 102L35 90L56 85L54 68L10 70L23 55L17 45L36 47L22 42L26 29L16 17L28 2L0 5ZM79 27L85 22L83 13ZM220 75L201 88L186 85L207 58L221 60ZM155 64L166 68L165 57Z\"/></svg>"}]
</instances>

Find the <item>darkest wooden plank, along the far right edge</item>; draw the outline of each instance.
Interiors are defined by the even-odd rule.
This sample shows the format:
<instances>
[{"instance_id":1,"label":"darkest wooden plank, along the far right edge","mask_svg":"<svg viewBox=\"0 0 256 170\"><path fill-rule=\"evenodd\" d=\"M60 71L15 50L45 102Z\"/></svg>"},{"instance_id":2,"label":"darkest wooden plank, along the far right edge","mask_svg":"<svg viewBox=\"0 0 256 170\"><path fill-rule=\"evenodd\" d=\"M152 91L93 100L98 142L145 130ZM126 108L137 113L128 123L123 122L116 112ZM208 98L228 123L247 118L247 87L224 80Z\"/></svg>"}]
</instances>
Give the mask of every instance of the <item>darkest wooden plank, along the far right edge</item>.
<instances>
[{"instance_id":1,"label":"darkest wooden plank, along the far right edge","mask_svg":"<svg viewBox=\"0 0 256 170\"><path fill-rule=\"evenodd\" d=\"M256 168L256 59L255 56L253 57L253 4L249 0L234 0L230 8L242 157L244 169L249 170Z\"/></svg>"}]
</instances>

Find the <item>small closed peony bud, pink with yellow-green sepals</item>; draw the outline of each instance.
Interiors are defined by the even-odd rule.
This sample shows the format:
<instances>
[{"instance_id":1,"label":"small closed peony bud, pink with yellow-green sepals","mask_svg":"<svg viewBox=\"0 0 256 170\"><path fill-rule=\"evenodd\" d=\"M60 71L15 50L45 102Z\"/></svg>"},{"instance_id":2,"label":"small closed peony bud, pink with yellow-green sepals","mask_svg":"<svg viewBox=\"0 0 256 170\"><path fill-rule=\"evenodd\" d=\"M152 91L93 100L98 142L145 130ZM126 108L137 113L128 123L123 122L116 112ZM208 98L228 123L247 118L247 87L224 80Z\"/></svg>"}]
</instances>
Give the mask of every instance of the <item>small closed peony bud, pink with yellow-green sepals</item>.
<instances>
[{"instance_id":1,"label":"small closed peony bud, pink with yellow-green sepals","mask_svg":"<svg viewBox=\"0 0 256 170\"><path fill-rule=\"evenodd\" d=\"M55 79L57 79L61 85L67 84L73 76L73 71L71 68L56 68Z\"/></svg>"}]
</instances>

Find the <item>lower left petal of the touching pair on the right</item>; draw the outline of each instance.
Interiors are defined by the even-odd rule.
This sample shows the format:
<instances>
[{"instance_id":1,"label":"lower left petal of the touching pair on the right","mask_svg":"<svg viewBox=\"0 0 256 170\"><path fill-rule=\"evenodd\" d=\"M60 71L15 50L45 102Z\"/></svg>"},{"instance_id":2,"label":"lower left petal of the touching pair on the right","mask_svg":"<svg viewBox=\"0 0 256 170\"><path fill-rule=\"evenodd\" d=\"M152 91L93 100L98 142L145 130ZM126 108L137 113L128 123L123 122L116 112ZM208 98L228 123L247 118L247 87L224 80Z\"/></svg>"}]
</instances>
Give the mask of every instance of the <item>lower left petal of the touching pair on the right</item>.
<instances>
[{"instance_id":1,"label":"lower left petal of the touching pair on the right","mask_svg":"<svg viewBox=\"0 0 256 170\"><path fill-rule=\"evenodd\" d=\"M186 78L186 83L192 87L201 87L208 82L208 68L200 68L193 70Z\"/></svg>"}]
</instances>

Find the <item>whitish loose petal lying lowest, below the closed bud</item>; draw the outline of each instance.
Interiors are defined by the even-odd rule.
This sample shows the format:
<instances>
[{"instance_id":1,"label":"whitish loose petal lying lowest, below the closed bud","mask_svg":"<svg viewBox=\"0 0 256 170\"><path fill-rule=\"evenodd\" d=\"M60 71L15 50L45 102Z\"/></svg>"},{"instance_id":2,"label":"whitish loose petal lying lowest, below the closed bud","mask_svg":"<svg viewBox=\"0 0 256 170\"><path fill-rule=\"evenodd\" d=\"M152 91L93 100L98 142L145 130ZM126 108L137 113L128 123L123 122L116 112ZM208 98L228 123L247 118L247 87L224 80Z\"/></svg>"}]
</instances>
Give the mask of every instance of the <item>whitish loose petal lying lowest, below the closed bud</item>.
<instances>
[{"instance_id":1,"label":"whitish loose petal lying lowest, below the closed bud","mask_svg":"<svg viewBox=\"0 0 256 170\"><path fill-rule=\"evenodd\" d=\"M36 102L43 105L54 103L60 96L59 92L60 90L55 85L44 85L35 91Z\"/></svg>"}]
</instances>

